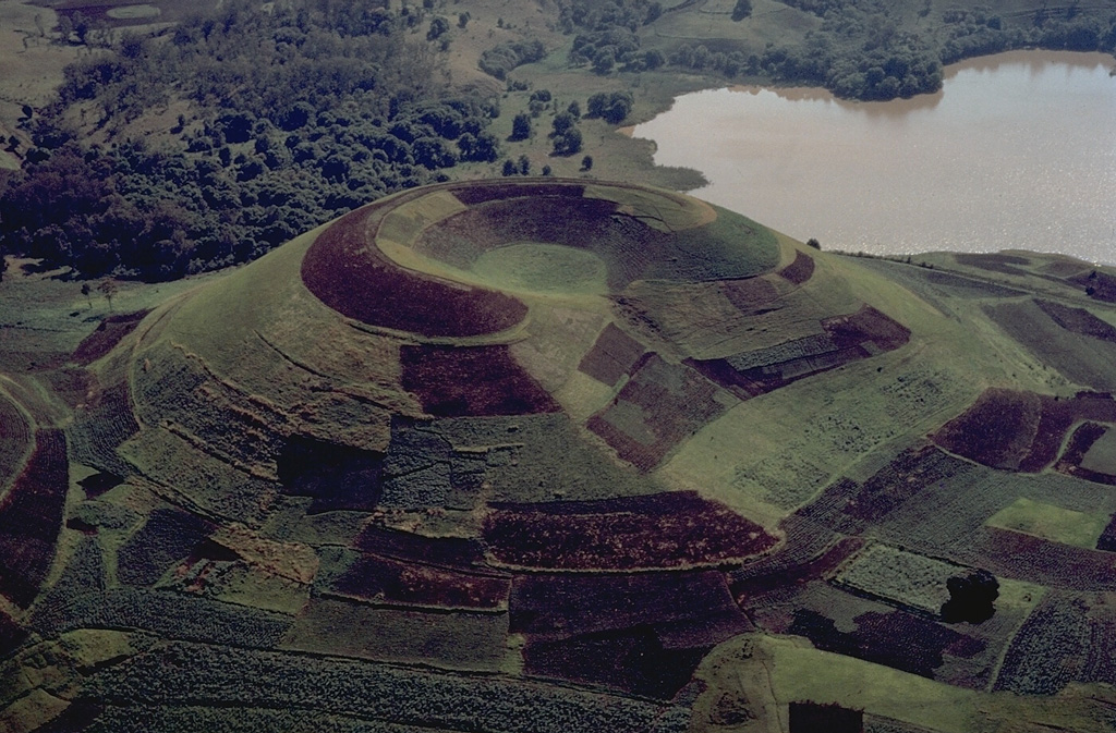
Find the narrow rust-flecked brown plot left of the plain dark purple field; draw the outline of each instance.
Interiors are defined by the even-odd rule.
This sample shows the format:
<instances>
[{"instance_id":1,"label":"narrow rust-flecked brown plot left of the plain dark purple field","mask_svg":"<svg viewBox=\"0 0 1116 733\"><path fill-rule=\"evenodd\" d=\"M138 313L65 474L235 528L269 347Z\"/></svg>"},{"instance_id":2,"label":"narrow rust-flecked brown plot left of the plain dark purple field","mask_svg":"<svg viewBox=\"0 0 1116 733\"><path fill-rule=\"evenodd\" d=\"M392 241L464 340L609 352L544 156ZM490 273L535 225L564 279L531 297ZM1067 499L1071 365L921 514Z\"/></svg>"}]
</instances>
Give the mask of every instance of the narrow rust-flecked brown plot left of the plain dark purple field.
<instances>
[{"instance_id":1,"label":"narrow rust-flecked brown plot left of the plain dark purple field","mask_svg":"<svg viewBox=\"0 0 1116 733\"><path fill-rule=\"evenodd\" d=\"M510 578L496 573L462 572L414 560L362 554L333 582L331 589L381 604L494 610L508 601L509 585Z\"/></svg>"}]
</instances>

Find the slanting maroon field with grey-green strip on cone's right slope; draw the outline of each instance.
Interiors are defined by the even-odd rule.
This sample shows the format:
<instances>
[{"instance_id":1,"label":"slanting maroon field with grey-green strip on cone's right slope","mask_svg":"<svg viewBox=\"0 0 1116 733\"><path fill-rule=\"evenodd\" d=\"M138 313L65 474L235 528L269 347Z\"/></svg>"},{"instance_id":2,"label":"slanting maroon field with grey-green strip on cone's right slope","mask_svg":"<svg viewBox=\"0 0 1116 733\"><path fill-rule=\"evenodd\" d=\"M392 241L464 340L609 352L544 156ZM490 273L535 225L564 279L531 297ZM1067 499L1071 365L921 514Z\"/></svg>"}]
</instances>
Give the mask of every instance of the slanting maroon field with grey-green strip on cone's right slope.
<instances>
[{"instance_id":1,"label":"slanting maroon field with grey-green strip on cone's right slope","mask_svg":"<svg viewBox=\"0 0 1116 733\"><path fill-rule=\"evenodd\" d=\"M723 359L686 364L741 399L904 346L911 330L870 306L820 321L824 334Z\"/></svg>"}]
</instances>

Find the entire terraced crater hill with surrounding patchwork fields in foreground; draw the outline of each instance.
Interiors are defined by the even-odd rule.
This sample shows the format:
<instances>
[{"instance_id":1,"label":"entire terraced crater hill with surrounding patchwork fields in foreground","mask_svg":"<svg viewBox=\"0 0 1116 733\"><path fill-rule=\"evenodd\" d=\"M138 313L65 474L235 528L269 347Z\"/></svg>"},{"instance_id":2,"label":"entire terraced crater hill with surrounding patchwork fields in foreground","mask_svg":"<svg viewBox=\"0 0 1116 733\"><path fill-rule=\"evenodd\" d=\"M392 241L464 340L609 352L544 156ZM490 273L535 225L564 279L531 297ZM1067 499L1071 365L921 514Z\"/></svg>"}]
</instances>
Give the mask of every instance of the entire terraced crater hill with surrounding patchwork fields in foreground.
<instances>
[{"instance_id":1,"label":"entire terraced crater hill with surrounding patchwork fields in foreground","mask_svg":"<svg viewBox=\"0 0 1116 733\"><path fill-rule=\"evenodd\" d=\"M1105 730L1108 277L547 177L44 307L0 347L0 729Z\"/></svg>"}]
</instances>

